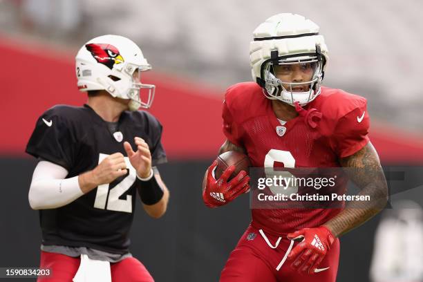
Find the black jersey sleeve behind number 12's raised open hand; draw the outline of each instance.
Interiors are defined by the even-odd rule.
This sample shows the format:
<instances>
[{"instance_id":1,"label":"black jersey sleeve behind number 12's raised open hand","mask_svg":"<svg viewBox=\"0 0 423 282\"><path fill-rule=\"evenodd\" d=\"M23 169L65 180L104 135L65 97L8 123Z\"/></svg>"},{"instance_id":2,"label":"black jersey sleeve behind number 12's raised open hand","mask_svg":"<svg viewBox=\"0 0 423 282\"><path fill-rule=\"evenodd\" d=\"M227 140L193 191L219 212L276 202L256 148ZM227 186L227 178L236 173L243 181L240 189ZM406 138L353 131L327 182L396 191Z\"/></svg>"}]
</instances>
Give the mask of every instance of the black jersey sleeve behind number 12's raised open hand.
<instances>
[{"instance_id":1,"label":"black jersey sleeve behind number 12's raised open hand","mask_svg":"<svg viewBox=\"0 0 423 282\"><path fill-rule=\"evenodd\" d=\"M157 164L167 162L166 152L164 151L162 145L163 126L153 115L148 115L148 119L152 145L150 148L152 160L151 165L156 166Z\"/></svg>"}]
</instances>

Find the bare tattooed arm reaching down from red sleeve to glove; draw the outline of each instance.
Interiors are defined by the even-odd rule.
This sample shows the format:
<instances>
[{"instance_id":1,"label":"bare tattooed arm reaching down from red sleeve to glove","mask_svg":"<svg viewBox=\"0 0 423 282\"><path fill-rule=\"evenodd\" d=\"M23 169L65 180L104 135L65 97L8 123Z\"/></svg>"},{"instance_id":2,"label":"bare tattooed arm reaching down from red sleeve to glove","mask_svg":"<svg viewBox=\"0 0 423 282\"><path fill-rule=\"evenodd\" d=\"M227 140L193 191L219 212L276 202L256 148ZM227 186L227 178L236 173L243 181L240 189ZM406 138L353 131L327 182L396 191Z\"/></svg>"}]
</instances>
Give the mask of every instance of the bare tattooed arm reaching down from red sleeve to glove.
<instances>
[{"instance_id":1,"label":"bare tattooed arm reaching down from red sleeve to glove","mask_svg":"<svg viewBox=\"0 0 423 282\"><path fill-rule=\"evenodd\" d=\"M349 202L342 212L323 225L337 237L379 213L386 205L388 197L379 156L370 142L357 153L342 158L340 162L342 167L352 168L347 169L348 177L361 189L359 195L368 195L370 200Z\"/></svg>"}]
</instances>

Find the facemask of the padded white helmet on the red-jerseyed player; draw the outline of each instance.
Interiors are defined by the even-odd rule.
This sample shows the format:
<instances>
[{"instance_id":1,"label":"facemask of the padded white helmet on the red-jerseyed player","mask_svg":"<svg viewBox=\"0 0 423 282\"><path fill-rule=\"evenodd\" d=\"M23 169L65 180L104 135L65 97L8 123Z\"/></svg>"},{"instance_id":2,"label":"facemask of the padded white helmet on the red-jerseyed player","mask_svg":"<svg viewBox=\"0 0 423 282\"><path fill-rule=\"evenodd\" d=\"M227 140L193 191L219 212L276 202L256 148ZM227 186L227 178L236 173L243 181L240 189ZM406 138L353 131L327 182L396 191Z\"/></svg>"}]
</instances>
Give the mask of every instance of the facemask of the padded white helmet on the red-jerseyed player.
<instances>
[{"instance_id":1,"label":"facemask of the padded white helmet on the red-jerseyed player","mask_svg":"<svg viewBox=\"0 0 423 282\"><path fill-rule=\"evenodd\" d=\"M306 105L320 94L323 64L323 57L317 53L279 57L277 50L272 51L272 57L261 65L261 77L264 78L263 93L271 100L280 100L292 106L295 102L300 106ZM294 71L301 73L299 81L291 81ZM286 80L284 76L287 77Z\"/></svg>"}]
</instances>

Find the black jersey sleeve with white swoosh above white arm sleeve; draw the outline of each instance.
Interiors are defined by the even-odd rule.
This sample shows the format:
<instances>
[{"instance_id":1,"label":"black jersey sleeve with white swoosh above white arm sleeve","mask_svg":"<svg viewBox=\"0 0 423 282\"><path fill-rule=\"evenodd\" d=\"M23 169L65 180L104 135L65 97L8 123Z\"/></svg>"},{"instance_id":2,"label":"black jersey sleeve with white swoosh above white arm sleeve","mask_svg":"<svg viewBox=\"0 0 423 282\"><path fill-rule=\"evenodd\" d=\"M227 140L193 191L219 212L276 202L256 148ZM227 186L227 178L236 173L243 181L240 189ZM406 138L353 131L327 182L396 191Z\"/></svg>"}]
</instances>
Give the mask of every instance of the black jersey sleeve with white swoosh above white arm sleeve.
<instances>
[{"instance_id":1,"label":"black jersey sleeve with white swoosh above white arm sleeve","mask_svg":"<svg viewBox=\"0 0 423 282\"><path fill-rule=\"evenodd\" d=\"M75 162L75 137L71 134L71 122L59 107L53 107L43 113L35 124L26 153L35 158L54 162L71 170Z\"/></svg>"}]
</instances>

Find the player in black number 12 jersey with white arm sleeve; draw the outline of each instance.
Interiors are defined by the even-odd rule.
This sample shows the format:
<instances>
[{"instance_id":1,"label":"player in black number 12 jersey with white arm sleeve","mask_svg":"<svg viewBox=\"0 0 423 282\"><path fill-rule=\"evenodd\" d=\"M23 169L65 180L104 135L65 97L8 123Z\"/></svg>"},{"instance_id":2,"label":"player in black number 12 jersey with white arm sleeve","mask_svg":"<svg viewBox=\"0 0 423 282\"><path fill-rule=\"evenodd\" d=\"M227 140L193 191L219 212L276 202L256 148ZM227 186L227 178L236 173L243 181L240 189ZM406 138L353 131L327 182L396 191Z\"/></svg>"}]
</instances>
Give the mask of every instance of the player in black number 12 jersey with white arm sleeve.
<instances>
[{"instance_id":1,"label":"player in black number 12 jersey with white arm sleeve","mask_svg":"<svg viewBox=\"0 0 423 282\"><path fill-rule=\"evenodd\" d=\"M155 86L140 81L149 69L133 41L96 37L76 56L87 104L53 106L37 120L26 147L39 159L28 198L39 209L40 265L53 273L46 281L153 281L129 252L136 192L153 218L169 200L156 168L167 161L162 126L138 111L153 101Z\"/></svg>"}]
</instances>

